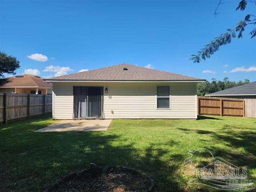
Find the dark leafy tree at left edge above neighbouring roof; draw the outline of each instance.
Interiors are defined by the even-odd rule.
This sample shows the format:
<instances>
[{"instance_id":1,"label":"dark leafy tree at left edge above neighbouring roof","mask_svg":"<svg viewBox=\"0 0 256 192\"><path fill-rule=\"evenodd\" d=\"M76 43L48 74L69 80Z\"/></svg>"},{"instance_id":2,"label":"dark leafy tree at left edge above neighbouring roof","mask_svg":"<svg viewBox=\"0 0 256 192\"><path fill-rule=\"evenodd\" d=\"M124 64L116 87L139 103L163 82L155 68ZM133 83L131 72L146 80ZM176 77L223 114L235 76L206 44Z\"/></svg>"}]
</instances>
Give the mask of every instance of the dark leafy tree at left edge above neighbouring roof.
<instances>
[{"instance_id":1,"label":"dark leafy tree at left edge above neighbouring roof","mask_svg":"<svg viewBox=\"0 0 256 192\"><path fill-rule=\"evenodd\" d=\"M4 78L4 73L15 75L14 71L18 68L20 68L20 62L16 57L0 51L0 78Z\"/></svg>"}]
</instances>

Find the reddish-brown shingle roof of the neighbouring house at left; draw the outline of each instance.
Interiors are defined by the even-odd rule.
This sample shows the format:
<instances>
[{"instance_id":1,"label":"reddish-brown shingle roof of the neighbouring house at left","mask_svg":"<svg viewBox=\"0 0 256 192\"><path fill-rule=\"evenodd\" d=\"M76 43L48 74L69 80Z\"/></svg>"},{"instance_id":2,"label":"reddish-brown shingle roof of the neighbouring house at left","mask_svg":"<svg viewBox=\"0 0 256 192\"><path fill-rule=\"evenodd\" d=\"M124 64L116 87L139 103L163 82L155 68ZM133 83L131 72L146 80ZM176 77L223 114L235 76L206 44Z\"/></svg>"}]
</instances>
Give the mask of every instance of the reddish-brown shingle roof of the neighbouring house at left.
<instances>
[{"instance_id":1,"label":"reddish-brown shingle roof of the neighbouring house at left","mask_svg":"<svg viewBox=\"0 0 256 192\"><path fill-rule=\"evenodd\" d=\"M44 82L43 78L30 74L0 79L0 87L46 87L52 88L52 83Z\"/></svg>"}]
</instances>

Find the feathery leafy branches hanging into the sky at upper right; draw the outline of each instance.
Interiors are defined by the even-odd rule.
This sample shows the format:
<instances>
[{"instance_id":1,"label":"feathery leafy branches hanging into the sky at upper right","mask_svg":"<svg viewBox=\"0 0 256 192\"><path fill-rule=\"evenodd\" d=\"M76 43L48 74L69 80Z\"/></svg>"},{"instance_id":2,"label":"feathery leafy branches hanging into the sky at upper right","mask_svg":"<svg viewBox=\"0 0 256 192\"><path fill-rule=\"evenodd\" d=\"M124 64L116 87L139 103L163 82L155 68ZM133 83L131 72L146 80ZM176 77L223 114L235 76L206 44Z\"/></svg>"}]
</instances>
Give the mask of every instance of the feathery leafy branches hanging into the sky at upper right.
<instances>
[{"instance_id":1,"label":"feathery leafy branches hanging into the sky at upper right","mask_svg":"<svg viewBox=\"0 0 256 192\"><path fill-rule=\"evenodd\" d=\"M220 6L221 1L222 0L220 0L216 10ZM256 0L240 1L240 3L238 4L238 7L236 8L236 11L237 10L244 11L247 6L247 3L256 4ZM214 13L215 15L218 14L216 10ZM190 60L192 60L194 63L200 63L201 59L206 60L206 58L210 58L211 55L213 55L216 51L218 51L221 46L230 44L231 39L236 38L237 36L236 33L238 33L238 36L237 36L238 38L242 38L244 29L248 25L256 25L256 16L254 16L253 14L247 14L244 20L241 20L240 22L238 22L236 28L227 29L226 33L223 33L219 37L214 38L214 40L212 40L209 44L205 45L204 48L198 51L197 55L191 55L192 58L190 58ZM251 38L254 38L256 36L256 28L254 28L249 34L251 35Z\"/></svg>"}]
</instances>

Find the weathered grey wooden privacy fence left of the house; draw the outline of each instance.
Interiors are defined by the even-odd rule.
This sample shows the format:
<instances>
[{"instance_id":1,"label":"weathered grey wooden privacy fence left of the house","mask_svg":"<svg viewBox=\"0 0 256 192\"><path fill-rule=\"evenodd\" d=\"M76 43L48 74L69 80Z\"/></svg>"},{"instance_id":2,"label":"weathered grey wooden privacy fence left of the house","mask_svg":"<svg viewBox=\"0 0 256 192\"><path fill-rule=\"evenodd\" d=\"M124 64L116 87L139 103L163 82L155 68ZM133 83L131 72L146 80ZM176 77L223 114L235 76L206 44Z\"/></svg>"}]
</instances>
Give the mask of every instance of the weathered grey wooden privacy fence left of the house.
<instances>
[{"instance_id":1,"label":"weathered grey wooden privacy fence left of the house","mask_svg":"<svg viewBox=\"0 0 256 192\"><path fill-rule=\"evenodd\" d=\"M0 93L0 122L52 112L52 95Z\"/></svg>"}]
</instances>

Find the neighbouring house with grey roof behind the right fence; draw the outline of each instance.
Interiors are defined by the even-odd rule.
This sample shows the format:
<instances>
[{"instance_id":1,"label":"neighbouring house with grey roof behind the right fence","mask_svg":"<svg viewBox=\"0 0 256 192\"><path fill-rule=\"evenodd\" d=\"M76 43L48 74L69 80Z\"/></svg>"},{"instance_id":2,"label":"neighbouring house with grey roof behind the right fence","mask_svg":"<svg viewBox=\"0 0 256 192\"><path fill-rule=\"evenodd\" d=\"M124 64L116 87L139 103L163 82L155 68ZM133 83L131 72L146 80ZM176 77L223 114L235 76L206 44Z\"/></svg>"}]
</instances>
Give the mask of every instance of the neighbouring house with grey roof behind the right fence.
<instances>
[{"instance_id":1,"label":"neighbouring house with grey roof behind the right fence","mask_svg":"<svg viewBox=\"0 0 256 192\"><path fill-rule=\"evenodd\" d=\"M226 97L226 98L241 98L255 99L256 98L256 81L244 85L228 88L222 91L217 91L205 96L210 97Z\"/></svg>"}]
</instances>

